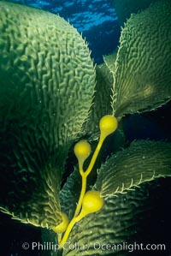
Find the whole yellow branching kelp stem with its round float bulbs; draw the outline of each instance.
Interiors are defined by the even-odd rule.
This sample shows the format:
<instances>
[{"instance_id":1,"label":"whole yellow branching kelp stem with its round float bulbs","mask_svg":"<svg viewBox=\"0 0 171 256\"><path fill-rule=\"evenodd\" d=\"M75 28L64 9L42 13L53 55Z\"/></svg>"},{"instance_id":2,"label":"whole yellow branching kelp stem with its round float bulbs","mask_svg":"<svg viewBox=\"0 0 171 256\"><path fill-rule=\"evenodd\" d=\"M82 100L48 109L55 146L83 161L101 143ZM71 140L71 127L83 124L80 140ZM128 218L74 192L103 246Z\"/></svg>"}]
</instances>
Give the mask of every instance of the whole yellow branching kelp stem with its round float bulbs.
<instances>
[{"instance_id":1,"label":"whole yellow branching kelp stem with its round float bulbs","mask_svg":"<svg viewBox=\"0 0 171 256\"><path fill-rule=\"evenodd\" d=\"M87 168L87 170L83 170L83 165L85 163L85 159L87 159L91 153L91 146L86 140L80 140L78 143L74 146L74 154L79 162L79 171L80 176L82 177L82 187L80 192L80 199L77 204L74 217L71 220L70 223L68 223L68 227L66 231L63 228L62 223L53 230L58 233L58 243L60 247L64 245L64 243L68 240L68 235L70 234L71 230L74 227L74 224L79 222L83 217L85 217L87 214L90 214L92 212L96 212L101 210L103 207L103 198L100 196L100 192L91 190L85 193L86 191L86 179L87 176L91 173L91 170L97 160L97 156L100 152L101 147L103 146L103 141L106 139L109 134L112 134L115 132L116 128L118 127L118 122L115 116L103 116L99 122L99 128L100 128L100 139L98 141L97 147L95 152L92 155L91 162ZM66 227L66 226L65 226ZM61 235L61 230L63 232L65 231L65 234Z\"/></svg>"}]
</instances>

